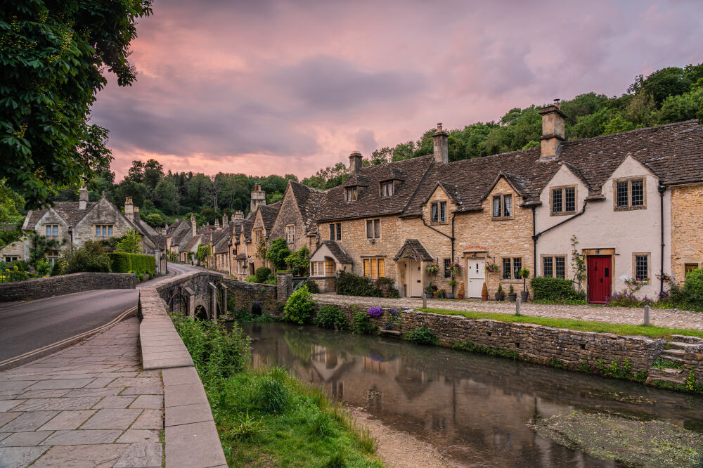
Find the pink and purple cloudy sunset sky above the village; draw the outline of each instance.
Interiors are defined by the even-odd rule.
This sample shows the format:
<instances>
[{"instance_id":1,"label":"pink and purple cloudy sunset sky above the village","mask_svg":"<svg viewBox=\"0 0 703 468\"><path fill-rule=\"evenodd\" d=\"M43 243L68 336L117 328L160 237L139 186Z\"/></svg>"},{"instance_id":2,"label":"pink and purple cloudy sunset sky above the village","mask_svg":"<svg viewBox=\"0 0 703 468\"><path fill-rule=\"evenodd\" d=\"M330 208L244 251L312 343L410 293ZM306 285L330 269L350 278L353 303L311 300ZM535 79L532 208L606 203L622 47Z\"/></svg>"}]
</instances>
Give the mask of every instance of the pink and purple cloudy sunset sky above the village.
<instances>
[{"instance_id":1,"label":"pink and purple cloudy sunset sky above the village","mask_svg":"<svg viewBox=\"0 0 703 468\"><path fill-rule=\"evenodd\" d=\"M120 180L132 160L295 174L358 149L498 119L703 61L703 2L156 0L136 84L98 94Z\"/></svg>"}]
</instances>

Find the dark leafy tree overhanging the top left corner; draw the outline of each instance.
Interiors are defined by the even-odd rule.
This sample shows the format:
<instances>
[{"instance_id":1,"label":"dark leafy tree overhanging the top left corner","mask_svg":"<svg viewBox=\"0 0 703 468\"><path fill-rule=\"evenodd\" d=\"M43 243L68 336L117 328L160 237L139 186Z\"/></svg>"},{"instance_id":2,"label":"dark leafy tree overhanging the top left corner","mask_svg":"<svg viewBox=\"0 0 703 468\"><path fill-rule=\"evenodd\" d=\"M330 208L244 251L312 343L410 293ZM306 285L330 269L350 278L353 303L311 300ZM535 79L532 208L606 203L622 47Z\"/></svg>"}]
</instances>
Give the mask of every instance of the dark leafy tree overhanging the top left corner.
<instances>
[{"instance_id":1,"label":"dark leafy tree overhanging the top left corner","mask_svg":"<svg viewBox=\"0 0 703 468\"><path fill-rule=\"evenodd\" d=\"M91 182L111 158L108 131L89 124L104 71L127 86L136 20L151 0L5 2L0 10L0 178L28 207ZM104 71L103 71L104 70Z\"/></svg>"}]
</instances>

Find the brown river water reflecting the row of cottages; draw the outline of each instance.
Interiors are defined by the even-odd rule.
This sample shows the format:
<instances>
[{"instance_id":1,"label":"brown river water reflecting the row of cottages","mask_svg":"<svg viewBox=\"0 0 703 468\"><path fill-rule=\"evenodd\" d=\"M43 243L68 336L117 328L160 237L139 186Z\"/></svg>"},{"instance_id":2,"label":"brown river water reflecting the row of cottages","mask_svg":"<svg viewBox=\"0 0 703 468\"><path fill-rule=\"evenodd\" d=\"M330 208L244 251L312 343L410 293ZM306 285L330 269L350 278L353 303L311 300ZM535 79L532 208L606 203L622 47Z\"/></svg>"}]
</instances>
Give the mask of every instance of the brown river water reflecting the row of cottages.
<instances>
[{"instance_id":1,"label":"brown river water reflecting the row of cottages","mask_svg":"<svg viewBox=\"0 0 703 468\"><path fill-rule=\"evenodd\" d=\"M254 366L280 365L432 443L465 466L617 466L537 436L535 417L579 410L703 431L701 398L396 339L248 324Z\"/></svg>"}]
</instances>

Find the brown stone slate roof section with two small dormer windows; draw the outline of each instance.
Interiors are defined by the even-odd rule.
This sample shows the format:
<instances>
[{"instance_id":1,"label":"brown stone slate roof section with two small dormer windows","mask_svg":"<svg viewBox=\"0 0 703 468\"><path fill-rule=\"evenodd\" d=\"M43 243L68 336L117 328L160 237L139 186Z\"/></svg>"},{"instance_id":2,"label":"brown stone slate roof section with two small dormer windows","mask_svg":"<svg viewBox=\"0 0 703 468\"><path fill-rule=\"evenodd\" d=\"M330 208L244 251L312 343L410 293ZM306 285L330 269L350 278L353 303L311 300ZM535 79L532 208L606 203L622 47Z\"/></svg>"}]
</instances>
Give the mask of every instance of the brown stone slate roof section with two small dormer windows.
<instances>
[{"instance_id":1,"label":"brown stone slate roof section with two small dormer windows","mask_svg":"<svg viewBox=\"0 0 703 468\"><path fill-rule=\"evenodd\" d=\"M378 166L362 167L358 177L354 178L354 176L351 176L347 178L347 181L352 179L352 181L357 181L357 183L359 183L359 180L362 180L362 183L366 183L366 179L368 179L367 186L359 189L356 202L347 203L345 201L344 186L330 188L325 191L318 214L318 221L400 214L413 198L418 184L423 180L427 169L432 167L433 161L434 157L430 155ZM392 197L381 197L380 183L391 180L394 174L404 176L405 180L398 184ZM344 185L347 185L347 183Z\"/></svg>"}]
</instances>

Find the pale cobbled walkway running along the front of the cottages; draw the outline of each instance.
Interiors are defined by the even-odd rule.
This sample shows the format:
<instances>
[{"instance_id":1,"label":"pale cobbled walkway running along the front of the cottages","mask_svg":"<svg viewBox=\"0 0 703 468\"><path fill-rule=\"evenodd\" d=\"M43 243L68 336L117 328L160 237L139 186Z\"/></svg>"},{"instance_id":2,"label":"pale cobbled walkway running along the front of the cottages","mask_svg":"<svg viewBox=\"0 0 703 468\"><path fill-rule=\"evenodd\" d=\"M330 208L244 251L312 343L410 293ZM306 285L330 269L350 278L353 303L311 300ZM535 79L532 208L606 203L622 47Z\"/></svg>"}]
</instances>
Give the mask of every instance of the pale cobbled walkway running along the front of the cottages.
<instances>
[{"instance_id":1,"label":"pale cobbled walkway running along the front of the cottages","mask_svg":"<svg viewBox=\"0 0 703 468\"><path fill-rule=\"evenodd\" d=\"M359 306L400 306L420 308L422 299L403 298L386 299L378 297L337 296L337 294L314 294L315 299L329 304L358 304ZM515 303L507 299L498 301L449 301L430 299L429 308L444 308L451 311L473 311L487 313L515 313ZM573 318L592 322L623 323L642 325L644 312L642 308L603 307L603 306L560 306L551 304L522 304L522 315L549 318ZM692 328L703 330L703 313L679 311L671 308L652 308L650 323L660 327Z\"/></svg>"}]
</instances>

